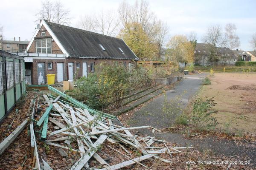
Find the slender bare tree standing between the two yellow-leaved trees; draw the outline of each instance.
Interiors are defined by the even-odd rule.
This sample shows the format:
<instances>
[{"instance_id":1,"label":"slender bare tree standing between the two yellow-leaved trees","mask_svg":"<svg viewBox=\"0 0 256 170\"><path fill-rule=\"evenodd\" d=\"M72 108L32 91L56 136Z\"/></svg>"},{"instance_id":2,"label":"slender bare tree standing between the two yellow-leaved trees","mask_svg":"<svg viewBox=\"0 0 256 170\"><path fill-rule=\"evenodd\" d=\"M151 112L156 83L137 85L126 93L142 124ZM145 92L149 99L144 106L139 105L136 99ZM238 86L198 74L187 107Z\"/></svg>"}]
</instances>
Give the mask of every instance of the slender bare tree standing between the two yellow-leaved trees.
<instances>
[{"instance_id":1,"label":"slender bare tree standing between the two yellow-leaved trees","mask_svg":"<svg viewBox=\"0 0 256 170\"><path fill-rule=\"evenodd\" d=\"M163 48L164 43L166 42L166 35L168 33L168 26L166 23L163 23L162 20L158 20L155 27L154 40L157 43L158 48L158 57L161 57L161 48Z\"/></svg>"}]
</instances>

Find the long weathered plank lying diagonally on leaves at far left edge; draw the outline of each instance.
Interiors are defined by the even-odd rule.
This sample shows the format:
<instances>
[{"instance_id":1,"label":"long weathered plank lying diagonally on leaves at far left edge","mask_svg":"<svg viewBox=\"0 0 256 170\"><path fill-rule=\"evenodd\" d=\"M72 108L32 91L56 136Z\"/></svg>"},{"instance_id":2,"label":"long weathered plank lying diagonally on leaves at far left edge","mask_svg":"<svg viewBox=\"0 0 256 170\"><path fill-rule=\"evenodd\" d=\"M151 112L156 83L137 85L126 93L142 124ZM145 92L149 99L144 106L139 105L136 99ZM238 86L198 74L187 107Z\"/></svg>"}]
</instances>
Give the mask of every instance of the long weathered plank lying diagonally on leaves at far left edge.
<instances>
[{"instance_id":1,"label":"long weathered plank lying diagonally on leaves at far left edge","mask_svg":"<svg viewBox=\"0 0 256 170\"><path fill-rule=\"evenodd\" d=\"M20 132L26 127L28 119L24 120L13 132L0 143L0 155L16 139Z\"/></svg>"}]
</instances>

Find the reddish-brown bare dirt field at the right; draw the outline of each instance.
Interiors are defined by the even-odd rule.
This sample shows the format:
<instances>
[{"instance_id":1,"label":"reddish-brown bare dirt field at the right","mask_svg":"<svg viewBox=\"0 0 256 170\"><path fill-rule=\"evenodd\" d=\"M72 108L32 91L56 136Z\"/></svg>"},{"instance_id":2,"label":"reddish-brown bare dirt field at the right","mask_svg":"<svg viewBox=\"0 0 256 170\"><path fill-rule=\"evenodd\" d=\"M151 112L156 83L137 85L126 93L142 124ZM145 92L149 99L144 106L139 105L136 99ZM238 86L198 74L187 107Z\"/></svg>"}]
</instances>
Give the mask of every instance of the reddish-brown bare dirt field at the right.
<instances>
[{"instance_id":1,"label":"reddish-brown bare dirt field at the right","mask_svg":"<svg viewBox=\"0 0 256 170\"><path fill-rule=\"evenodd\" d=\"M232 133L256 133L256 74L215 73L200 97L215 96L218 128Z\"/></svg>"}]
</instances>

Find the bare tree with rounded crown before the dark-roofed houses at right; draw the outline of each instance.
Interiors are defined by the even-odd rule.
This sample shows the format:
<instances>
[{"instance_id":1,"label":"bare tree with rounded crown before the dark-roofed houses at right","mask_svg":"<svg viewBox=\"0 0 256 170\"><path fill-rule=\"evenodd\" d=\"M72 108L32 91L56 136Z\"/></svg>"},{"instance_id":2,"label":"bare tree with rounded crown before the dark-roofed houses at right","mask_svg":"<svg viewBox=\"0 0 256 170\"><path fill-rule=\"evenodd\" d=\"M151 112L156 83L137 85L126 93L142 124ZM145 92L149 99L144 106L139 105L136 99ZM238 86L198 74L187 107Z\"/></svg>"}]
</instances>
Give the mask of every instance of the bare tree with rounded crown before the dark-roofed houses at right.
<instances>
[{"instance_id":1,"label":"bare tree with rounded crown before the dark-roofed houses at right","mask_svg":"<svg viewBox=\"0 0 256 170\"><path fill-rule=\"evenodd\" d=\"M216 55L217 47L224 47L224 45L226 45L226 38L221 26L209 26L206 34L203 37L203 41L210 44L211 47L209 62L212 64L214 61L218 61L219 58Z\"/></svg>"}]
</instances>

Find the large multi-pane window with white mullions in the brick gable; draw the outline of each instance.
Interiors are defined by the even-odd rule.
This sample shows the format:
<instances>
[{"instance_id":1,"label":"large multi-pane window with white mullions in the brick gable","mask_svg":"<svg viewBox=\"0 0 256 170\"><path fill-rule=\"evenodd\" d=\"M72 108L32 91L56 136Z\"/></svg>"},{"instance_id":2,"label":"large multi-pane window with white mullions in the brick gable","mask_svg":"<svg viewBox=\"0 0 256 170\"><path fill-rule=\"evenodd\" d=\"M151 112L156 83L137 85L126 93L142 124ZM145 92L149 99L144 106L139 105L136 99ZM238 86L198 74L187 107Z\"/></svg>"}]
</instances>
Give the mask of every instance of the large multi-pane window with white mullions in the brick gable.
<instances>
[{"instance_id":1,"label":"large multi-pane window with white mullions in the brick gable","mask_svg":"<svg viewBox=\"0 0 256 170\"><path fill-rule=\"evenodd\" d=\"M52 53L52 38L36 39L36 53Z\"/></svg>"}]
</instances>

